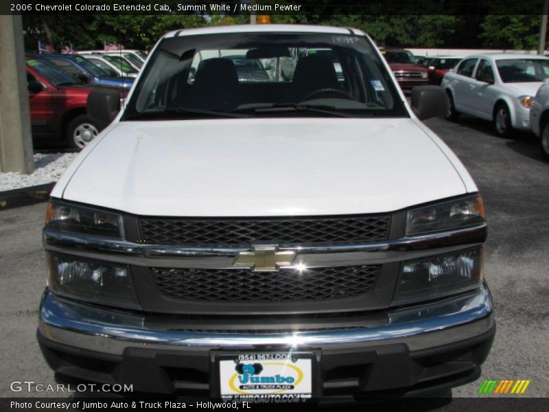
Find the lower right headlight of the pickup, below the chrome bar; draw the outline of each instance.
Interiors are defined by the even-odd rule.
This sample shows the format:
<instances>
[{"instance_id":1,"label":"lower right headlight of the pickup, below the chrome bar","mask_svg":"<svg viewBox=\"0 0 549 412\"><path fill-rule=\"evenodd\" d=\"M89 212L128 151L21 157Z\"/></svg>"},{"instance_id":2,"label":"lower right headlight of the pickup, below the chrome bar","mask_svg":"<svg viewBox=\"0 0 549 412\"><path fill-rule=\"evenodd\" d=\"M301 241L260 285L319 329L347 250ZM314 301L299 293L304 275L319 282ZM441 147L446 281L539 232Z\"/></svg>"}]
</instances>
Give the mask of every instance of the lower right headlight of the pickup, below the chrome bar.
<instances>
[{"instance_id":1,"label":"lower right headlight of the pickup, below the chrome bar","mask_svg":"<svg viewBox=\"0 0 549 412\"><path fill-rule=\"evenodd\" d=\"M394 304L475 288L482 279L482 248L404 262Z\"/></svg>"}]
</instances>

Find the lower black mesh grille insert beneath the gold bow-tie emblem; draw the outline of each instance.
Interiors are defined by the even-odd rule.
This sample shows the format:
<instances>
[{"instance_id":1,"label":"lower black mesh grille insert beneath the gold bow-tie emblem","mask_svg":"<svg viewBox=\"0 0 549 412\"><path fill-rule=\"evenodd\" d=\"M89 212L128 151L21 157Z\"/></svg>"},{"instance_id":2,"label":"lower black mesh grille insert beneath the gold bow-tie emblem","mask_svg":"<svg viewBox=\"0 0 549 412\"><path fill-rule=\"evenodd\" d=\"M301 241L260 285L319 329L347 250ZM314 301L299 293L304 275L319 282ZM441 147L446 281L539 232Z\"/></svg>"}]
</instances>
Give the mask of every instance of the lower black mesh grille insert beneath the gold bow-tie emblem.
<instances>
[{"instance_id":1,"label":"lower black mesh grille insert beneath the gold bow-tie emblem","mask_svg":"<svg viewBox=\"0 0 549 412\"><path fill-rule=\"evenodd\" d=\"M379 265L254 272L249 269L151 268L166 297L186 301L272 302L344 299L367 293Z\"/></svg>"}]
</instances>

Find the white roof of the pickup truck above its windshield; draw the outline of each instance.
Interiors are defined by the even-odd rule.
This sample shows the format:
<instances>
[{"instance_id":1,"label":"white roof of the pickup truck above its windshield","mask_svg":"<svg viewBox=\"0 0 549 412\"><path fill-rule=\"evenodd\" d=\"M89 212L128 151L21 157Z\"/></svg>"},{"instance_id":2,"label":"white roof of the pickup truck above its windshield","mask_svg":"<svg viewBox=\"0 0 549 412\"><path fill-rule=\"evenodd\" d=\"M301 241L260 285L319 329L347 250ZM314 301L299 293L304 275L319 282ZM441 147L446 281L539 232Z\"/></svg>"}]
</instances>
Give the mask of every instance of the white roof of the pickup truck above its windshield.
<instances>
[{"instance_id":1,"label":"white roof of the pickup truck above its windshield","mask_svg":"<svg viewBox=\"0 0 549 412\"><path fill-rule=\"evenodd\" d=\"M330 27L318 25L290 25L290 24L255 24L255 25L230 25L218 27L201 27L198 29L174 30L164 35L163 38L195 36L198 34L226 34L226 33L261 33L261 32L290 32L290 33L328 33L328 34L354 34L364 36L364 32L358 29L345 27Z\"/></svg>"}]
</instances>

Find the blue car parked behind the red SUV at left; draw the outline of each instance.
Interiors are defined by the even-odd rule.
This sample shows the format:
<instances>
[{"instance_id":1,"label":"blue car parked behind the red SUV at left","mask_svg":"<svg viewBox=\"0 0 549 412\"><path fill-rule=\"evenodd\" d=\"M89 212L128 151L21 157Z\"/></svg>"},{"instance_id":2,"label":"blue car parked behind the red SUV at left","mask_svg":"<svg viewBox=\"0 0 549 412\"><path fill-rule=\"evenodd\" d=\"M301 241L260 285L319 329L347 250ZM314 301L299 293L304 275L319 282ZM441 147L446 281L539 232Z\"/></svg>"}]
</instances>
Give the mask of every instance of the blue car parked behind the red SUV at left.
<instances>
[{"instance_id":1,"label":"blue car parked behind the red SUV at left","mask_svg":"<svg viewBox=\"0 0 549 412\"><path fill-rule=\"evenodd\" d=\"M94 65L88 59L79 56L78 54L43 54L42 58L46 58L56 65L75 76L84 83L98 84L100 86L124 87L130 89L133 84L132 78L114 78L109 74Z\"/></svg>"}]
</instances>

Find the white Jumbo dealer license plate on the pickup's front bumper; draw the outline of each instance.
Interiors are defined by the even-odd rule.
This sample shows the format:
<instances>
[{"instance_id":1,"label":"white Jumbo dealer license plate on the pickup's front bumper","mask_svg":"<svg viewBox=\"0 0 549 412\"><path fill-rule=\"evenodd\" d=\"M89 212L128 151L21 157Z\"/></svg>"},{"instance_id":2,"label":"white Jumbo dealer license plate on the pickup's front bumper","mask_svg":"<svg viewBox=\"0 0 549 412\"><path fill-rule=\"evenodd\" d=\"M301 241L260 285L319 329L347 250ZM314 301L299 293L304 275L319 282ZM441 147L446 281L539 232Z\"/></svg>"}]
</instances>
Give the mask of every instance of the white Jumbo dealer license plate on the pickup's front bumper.
<instances>
[{"instance_id":1,"label":"white Jumbo dealer license plate on the pickup's front bumper","mask_svg":"<svg viewBox=\"0 0 549 412\"><path fill-rule=\"evenodd\" d=\"M246 353L218 358L222 398L311 398L313 355Z\"/></svg>"}]
</instances>

